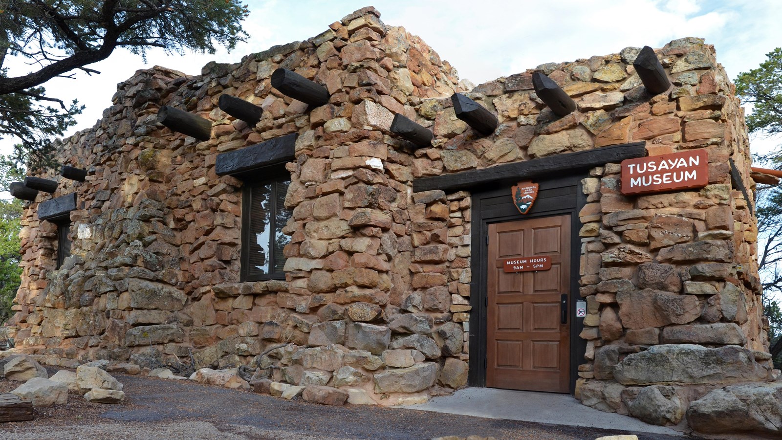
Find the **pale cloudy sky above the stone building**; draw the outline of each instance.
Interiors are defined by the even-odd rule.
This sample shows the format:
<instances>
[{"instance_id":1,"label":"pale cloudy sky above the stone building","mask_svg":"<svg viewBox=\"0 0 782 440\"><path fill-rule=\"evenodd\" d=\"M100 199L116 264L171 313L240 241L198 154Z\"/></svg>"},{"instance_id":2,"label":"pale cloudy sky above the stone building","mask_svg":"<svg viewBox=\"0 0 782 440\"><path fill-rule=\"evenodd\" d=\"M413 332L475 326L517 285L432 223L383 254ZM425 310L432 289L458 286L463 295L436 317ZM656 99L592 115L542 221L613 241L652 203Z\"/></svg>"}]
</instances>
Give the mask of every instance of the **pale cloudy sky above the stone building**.
<instances>
[{"instance_id":1,"label":"pale cloudy sky above the stone building","mask_svg":"<svg viewBox=\"0 0 782 440\"><path fill-rule=\"evenodd\" d=\"M90 66L102 74L90 77L79 72L75 80L49 81L45 85L49 96L66 101L77 98L87 106L69 134L94 125L111 105L117 83L133 76L135 70L160 65L199 74L210 60L235 63L272 45L313 37L369 1L248 3L250 15L244 27L249 39L231 53L179 56L152 50L144 63L140 56L117 49L109 60ZM418 34L456 67L461 78L475 84L542 63L607 55L626 46L659 48L682 37L702 37L715 45L717 60L735 78L757 67L766 53L782 45L778 0L376 0L371 4L386 24ZM9 76L21 73L16 70Z\"/></svg>"}]
</instances>

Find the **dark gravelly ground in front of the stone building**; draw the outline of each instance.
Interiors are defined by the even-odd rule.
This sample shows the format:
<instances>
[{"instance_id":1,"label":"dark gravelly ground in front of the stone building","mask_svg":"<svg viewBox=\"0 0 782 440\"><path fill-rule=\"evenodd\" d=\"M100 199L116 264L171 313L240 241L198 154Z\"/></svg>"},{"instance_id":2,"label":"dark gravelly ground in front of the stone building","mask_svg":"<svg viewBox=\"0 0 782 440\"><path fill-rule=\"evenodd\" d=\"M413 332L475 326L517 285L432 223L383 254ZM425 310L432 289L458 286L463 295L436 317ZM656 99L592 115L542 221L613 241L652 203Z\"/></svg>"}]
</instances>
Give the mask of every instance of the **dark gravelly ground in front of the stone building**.
<instances>
[{"instance_id":1,"label":"dark gravelly ground in front of the stone building","mask_svg":"<svg viewBox=\"0 0 782 440\"><path fill-rule=\"evenodd\" d=\"M56 370L49 370L50 375ZM583 440L636 434L641 440L683 437L457 416L414 409L322 406L210 387L189 380L115 374L126 401L91 403L76 393L64 406L36 408L35 420L0 424L0 438L38 439L425 439L479 435L497 440ZM0 380L0 392L18 382Z\"/></svg>"}]
</instances>

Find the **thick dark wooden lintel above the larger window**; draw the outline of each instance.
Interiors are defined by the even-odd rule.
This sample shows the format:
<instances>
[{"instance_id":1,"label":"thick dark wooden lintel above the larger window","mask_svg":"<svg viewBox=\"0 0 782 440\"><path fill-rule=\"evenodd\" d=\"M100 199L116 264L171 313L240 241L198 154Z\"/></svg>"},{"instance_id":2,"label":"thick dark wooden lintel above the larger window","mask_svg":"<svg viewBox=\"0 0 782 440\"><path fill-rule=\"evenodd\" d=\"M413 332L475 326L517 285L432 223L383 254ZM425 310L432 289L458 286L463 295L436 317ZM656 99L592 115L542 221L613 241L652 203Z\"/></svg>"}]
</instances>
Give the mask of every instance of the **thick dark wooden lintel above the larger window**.
<instances>
[{"instance_id":1,"label":"thick dark wooden lintel above the larger window","mask_svg":"<svg viewBox=\"0 0 782 440\"><path fill-rule=\"evenodd\" d=\"M240 150L218 154L214 172L217 175L232 175L239 179L257 178L259 168L282 164L296 158L298 136L297 133L293 133L246 146Z\"/></svg>"}]
</instances>

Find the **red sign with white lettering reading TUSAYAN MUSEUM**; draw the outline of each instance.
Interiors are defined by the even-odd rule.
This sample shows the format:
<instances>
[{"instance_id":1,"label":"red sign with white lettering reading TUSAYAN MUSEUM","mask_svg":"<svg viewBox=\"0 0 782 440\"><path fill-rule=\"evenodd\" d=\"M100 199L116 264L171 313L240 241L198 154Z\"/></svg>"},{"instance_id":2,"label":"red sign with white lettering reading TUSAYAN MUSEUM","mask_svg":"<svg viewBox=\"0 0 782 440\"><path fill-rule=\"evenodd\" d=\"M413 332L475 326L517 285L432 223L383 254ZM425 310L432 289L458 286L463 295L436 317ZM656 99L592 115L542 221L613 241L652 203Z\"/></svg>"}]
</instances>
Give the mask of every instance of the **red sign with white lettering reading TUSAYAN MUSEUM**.
<instances>
[{"instance_id":1,"label":"red sign with white lettering reading TUSAYAN MUSEUM","mask_svg":"<svg viewBox=\"0 0 782 440\"><path fill-rule=\"evenodd\" d=\"M622 160L622 194L662 193L706 185L706 150Z\"/></svg>"}]
</instances>

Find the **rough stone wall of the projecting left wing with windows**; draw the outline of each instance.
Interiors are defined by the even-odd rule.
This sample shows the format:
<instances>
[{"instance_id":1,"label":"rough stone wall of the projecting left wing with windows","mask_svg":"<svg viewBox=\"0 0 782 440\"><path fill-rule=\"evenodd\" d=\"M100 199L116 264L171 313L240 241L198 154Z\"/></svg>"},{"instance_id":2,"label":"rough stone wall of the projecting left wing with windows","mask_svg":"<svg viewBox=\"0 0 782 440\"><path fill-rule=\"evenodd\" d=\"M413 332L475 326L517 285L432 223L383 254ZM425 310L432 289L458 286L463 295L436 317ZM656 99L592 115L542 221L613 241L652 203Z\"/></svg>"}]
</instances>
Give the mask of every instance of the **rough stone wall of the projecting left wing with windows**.
<instances>
[{"instance_id":1,"label":"rough stone wall of the projecting left wing with windows","mask_svg":"<svg viewBox=\"0 0 782 440\"><path fill-rule=\"evenodd\" d=\"M62 365L260 366L259 377L372 395L376 386L378 396L426 394L438 378L463 385L464 329L450 312L469 307L451 305L447 280L467 292L445 261L447 220L461 217L464 195L418 195L429 210L408 215L413 150L387 132L393 114L415 118L422 98L462 88L428 45L378 16L361 9L308 41L210 63L199 76L155 67L120 83L102 121L59 145L87 181L48 176L60 183L52 197L75 192L80 207L70 215L73 255L59 270L56 225L38 221L37 203L25 210L16 349ZM282 96L270 84L278 67L324 84L330 102L308 109ZM217 107L222 93L262 106L264 117L255 127L234 120ZM162 105L208 118L212 138L163 128ZM215 175L215 159L291 133L286 280L239 283L243 182ZM411 217L422 224L414 234ZM423 235L431 246L418 247ZM411 274L414 264L436 273Z\"/></svg>"}]
</instances>

